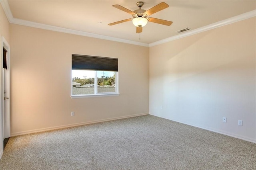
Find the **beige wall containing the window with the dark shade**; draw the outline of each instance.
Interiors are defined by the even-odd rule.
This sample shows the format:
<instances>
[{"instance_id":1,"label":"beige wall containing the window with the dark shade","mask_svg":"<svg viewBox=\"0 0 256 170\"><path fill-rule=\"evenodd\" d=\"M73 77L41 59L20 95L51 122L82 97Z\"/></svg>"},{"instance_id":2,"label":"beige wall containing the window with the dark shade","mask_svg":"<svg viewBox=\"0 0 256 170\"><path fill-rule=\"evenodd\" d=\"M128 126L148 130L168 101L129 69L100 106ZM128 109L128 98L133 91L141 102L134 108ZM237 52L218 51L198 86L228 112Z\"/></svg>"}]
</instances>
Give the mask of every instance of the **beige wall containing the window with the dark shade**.
<instances>
[{"instance_id":1,"label":"beige wall containing the window with the dark shade","mask_svg":"<svg viewBox=\"0 0 256 170\"><path fill-rule=\"evenodd\" d=\"M16 24L10 33L12 135L149 112L148 47ZM120 96L71 99L72 54L118 58Z\"/></svg>"}]
</instances>

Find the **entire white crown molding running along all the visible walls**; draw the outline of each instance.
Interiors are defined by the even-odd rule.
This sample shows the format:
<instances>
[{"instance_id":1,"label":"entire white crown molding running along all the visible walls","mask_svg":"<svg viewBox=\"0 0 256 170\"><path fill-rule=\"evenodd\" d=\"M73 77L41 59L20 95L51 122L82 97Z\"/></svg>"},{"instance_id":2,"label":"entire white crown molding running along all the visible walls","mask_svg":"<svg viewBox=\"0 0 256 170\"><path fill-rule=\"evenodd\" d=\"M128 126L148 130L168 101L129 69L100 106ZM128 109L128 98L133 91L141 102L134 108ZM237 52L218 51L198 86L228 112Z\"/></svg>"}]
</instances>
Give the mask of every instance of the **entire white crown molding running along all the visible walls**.
<instances>
[{"instance_id":1,"label":"entire white crown molding running along all the visible walls","mask_svg":"<svg viewBox=\"0 0 256 170\"><path fill-rule=\"evenodd\" d=\"M56 26L52 26L52 25L46 25L46 24L42 24L42 23L20 20L18 18L13 18L12 12L10 10L10 6L9 6L7 0L0 0L0 3L2 4L4 12L5 12L5 14L8 18L8 21L10 23L14 23L14 24L18 24L18 25L25 25L25 26L29 26L29 27L36 27L36 28L40 28L40 29L47 29L47 30L51 30L51 31L58 31L58 32L63 32L63 33L70 33L70 34L74 34L74 35L81 35L81 36L85 36L85 37L93 37L93 38L98 38L98 39L117 41L117 42L120 42L120 43L140 45L140 46L144 46L144 47L153 47L155 45L160 45L160 44L163 44L163 43L174 41L176 39L180 39L180 38L183 38L183 37L188 37L190 35L201 33L201 32L204 32L204 31L208 31L210 29L222 27L222 26L228 25L230 23L246 20L248 18L252 18L252 17L256 16L256 10L253 10L253 11L250 11L250 12L246 12L244 14L240 14L238 16L234 16L232 18L228 18L226 20L218 21L216 23L212 23L210 25L200 27L198 29L192 29L188 32L180 33L179 35L174 35L172 37L162 39L162 40L156 41L154 43L147 44L147 43L140 43L140 42L137 42L137 41L130 41L130 40L127 40L127 39L109 37L109 36L106 36L106 35L98 35L98 34L94 34L94 33L78 31L78 30L74 30L74 29L67 29L67 28L56 27Z\"/></svg>"}]
</instances>

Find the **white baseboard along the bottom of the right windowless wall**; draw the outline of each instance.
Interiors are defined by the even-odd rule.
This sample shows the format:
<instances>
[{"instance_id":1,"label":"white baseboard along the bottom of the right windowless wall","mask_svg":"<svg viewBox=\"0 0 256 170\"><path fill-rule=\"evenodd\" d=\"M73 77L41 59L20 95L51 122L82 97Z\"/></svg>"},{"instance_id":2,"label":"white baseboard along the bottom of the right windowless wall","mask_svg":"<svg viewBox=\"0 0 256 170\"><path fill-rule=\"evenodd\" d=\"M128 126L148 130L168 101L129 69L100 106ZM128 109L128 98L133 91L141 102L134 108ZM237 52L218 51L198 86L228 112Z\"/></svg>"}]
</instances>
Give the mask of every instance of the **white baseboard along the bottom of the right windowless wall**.
<instances>
[{"instance_id":1,"label":"white baseboard along the bottom of the right windowless wall","mask_svg":"<svg viewBox=\"0 0 256 170\"><path fill-rule=\"evenodd\" d=\"M168 119L168 118L163 117L163 116L161 116L161 115L155 115L155 114L150 114L150 115L153 115L153 116L156 116L156 117L161 117L161 118L164 118L164 119ZM212 131L212 132L220 133L220 134L222 134L222 135L227 135L227 136L230 136L230 137L234 137L234 138L242 139L242 140L244 140L244 141L248 141L248 142L256 143L256 139L252 139L252 138L244 137L244 136L237 135L237 134L234 134L234 133L229 133L229 132L222 131L222 130L219 130L219 129L213 129L213 128L210 128L210 127L204 127L204 126L201 126L201 125L194 125L194 124L191 124L191 123L181 122L181 121L177 121L177 120L173 120L173 119L168 119L168 120L176 121L176 122L178 122L178 123L182 123L182 124L186 124L186 125L190 125L190 126L198 127L198 128L200 128L200 129L205 129L205 130L208 130L208 131Z\"/></svg>"}]
</instances>

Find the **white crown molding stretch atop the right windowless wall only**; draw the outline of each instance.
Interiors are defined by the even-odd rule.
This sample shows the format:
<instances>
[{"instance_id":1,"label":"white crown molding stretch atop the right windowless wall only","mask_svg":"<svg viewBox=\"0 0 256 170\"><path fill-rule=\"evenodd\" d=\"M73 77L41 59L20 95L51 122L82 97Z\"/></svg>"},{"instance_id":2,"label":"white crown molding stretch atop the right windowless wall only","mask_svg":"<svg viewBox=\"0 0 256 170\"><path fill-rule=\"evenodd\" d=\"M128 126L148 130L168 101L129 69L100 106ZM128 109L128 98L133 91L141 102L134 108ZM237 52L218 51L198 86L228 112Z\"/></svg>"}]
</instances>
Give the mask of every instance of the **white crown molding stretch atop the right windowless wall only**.
<instances>
[{"instance_id":1,"label":"white crown molding stretch atop the right windowless wall only","mask_svg":"<svg viewBox=\"0 0 256 170\"><path fill-rule=\"evenodd\" d=\"M187 36L190 36L190 35L194 35L194 34L197 34L197 33L201 33L201 32L204 32L204 31L208 31L210 29L222 27L222 26L228 25L230 23L246 20L248 18L252 18L252 17L255 17L255 16L256 16L256 10L253 10L253 11L250 11L250 12L246 12L244 14L241 14L241 15L238 15L238 16L234 16L234 17L228 18L226 20L218 21L218 22L212 23L210 25L206 25L204 27L200 27L198 29L192 29L192 30L190 30L188 32L184 32L184 33L181 33L179 35L174 35L172 37L169 37L169 38L166 38L166 39L162 39L162 40L156 41L154 43L150 43L149 47L153 47L155 45L160 45L160 44L163 44L163 43L174 41L176 39L180 39L180 38L187 37Z\"/></svg>"}]
</instances>

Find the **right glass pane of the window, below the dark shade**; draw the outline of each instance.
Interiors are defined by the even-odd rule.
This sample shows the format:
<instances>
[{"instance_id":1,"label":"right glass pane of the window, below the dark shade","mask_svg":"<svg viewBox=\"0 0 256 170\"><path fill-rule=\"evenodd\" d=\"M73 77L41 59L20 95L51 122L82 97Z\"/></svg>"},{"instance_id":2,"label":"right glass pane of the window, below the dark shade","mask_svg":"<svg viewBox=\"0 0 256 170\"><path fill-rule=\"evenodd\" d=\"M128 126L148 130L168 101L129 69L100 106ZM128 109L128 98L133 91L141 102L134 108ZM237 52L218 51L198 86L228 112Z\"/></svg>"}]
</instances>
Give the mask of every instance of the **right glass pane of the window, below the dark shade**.
<instances>
[{"instance_id":1,"label":"right glass pane of the window, below the dark shade","mask_svg":"<svg viewBox=\"0 0 256 170\"><path fill-rule=\"evenodd\" d=\"M116 72L97 71L98 93L116 92Z\"/></svg>"}]
</instances>

